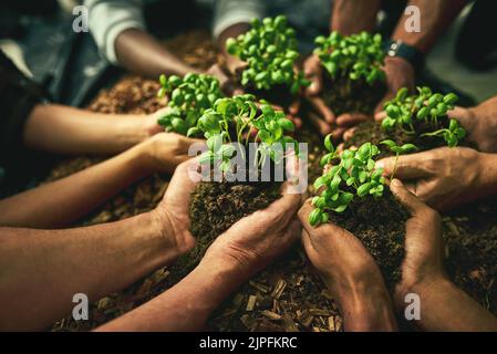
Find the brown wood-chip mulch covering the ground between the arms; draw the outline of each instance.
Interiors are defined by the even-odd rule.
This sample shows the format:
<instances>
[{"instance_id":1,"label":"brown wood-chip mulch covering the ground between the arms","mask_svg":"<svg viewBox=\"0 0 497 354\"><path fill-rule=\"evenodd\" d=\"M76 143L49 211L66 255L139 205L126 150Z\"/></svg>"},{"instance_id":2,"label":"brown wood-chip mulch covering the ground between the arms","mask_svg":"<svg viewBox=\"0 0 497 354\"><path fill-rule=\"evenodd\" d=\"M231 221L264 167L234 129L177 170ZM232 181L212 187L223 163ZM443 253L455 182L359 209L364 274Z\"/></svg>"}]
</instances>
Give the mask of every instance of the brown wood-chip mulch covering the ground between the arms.
<instances>
[{"instance_id":1,"label":"brown wood-chip mulch covering the ground between the arms","mask_svg":"<svg viewBox=\"0 0 497 354\"><path fill-rule=\"evenodd\" d=\"M206 69L216 60L216 51L206 32L179 35L166 45L186 62ZM122 79L110 91L103 91L89 106L104 113L152 113L161 107L155 94L158 84L136 76ZM310 143L310 174L321 174L319 157L321 138L310 129L298 137ZM63 162L49 180L62 178L99 162L80 157ZM79 225L114 221L153 209L167 188L168 176L154 175L112 198ZM496 313L497 277L491 256L497 254L497 208L479 205L444 217L447 264L456 283L463 285L486 308ZM478 217L475 221L475 216ZM111 294L91 306L90 321L75 322L68 316L52 331L89 331L111 321L154 298L170 287L170 270L159 269ZM342 317L317 273L297 244L280 260L241 287L227 299L208 322L215 331L341 331Z\"/></svg>"}]
</instances>

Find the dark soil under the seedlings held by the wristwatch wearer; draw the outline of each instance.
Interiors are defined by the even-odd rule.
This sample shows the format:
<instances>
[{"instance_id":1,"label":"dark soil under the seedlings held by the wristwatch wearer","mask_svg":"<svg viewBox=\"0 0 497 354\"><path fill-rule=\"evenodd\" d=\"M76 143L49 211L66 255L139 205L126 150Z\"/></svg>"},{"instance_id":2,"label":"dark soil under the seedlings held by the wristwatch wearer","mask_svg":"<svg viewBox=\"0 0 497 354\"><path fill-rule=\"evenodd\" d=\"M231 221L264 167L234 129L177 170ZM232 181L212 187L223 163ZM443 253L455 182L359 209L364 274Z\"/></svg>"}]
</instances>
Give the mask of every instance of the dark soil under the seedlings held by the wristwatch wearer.
<instances>
[{"instance_id":1,"label":"dark soil under the seedlings held by the wristwatch wearer","mask_svg":"<svg viewBox=\"0 0 497 354\"><path fill-rule=\"evenodd\" d=\"M383 82L376 81L372 86L364 80L350 80L340 76L332 80L328 72L322 97L333 113L339 116L343 113L363 113L372 115L380 100L385 94Z\"/></svg>"}]
</instances>

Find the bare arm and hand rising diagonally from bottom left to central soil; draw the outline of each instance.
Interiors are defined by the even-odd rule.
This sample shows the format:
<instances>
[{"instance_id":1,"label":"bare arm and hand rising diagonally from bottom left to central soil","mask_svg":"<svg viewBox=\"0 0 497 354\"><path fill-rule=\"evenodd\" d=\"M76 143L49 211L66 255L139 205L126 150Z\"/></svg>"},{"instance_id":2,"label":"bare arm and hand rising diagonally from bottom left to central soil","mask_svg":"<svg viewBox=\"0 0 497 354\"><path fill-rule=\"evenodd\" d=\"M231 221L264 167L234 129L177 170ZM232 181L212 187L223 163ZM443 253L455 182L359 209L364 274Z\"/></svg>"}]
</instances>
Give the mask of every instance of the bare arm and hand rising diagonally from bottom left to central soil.
<instances>
[{"instance_id":1,"label":"bare arm and hand rising diagonally from bottom left to central soil","mask_svg":"<svg viewBox=\"0 0 497 354\"><path fill-rule=\"evenodd\" d=\"M209 247L199 266L174 288L100 331L198 331L214 310L297 239L300 195L284 194L237 221Z\"/></svg>"}]
</instances>

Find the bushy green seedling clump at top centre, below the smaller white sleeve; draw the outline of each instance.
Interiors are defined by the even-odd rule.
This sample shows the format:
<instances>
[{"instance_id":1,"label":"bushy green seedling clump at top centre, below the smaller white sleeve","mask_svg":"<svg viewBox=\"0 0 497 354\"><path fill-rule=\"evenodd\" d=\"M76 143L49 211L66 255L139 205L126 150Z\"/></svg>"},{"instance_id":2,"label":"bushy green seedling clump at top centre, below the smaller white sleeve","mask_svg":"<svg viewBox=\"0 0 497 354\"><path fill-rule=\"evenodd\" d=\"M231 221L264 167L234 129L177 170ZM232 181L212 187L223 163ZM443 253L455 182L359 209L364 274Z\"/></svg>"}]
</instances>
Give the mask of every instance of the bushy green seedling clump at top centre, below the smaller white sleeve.
<instances>
[{"instance_id":1,"label":"bushy green seedling clump at top centre, below the smaller white sleeve","mask_svg":"<svg viewBox=\"0 0 497 354\"><path fill-rule=\"evenodd\" d=\"M297 94L300 87L309 85L303 73L294 71L299 58L296 31L288 27L284 15L255 19L248 32L226 41L226 50L247 63L241 74L244 86L271 90L288 85Z\"/></svg>"}]
</instances>

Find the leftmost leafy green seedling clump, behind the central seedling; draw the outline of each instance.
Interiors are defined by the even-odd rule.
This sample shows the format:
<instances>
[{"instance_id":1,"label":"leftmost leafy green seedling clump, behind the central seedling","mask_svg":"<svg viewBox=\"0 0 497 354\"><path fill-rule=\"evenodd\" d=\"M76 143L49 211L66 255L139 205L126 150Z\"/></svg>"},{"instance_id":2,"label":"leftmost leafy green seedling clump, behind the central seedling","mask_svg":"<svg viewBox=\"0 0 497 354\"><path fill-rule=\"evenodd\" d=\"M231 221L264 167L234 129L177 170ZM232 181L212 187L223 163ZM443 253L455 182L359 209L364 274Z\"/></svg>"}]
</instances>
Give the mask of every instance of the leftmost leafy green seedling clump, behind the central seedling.
<instances>
[{"instance_id":1,"label":"leftmost leafy green seedling clump, behind the central seedling","mask_svg":"<svg viewBox=\"0 0 497 354\"><path fill-rule=\"evenodd\" d=\"M166 132L186 135L197 124L204 111L210 108L216 100L224 97L219 81L206 74L189 73L183 79L161 75L159 82L162 87L157 95L170 95L169 112L157 121Z\"/></svg>"}]
</instances>

